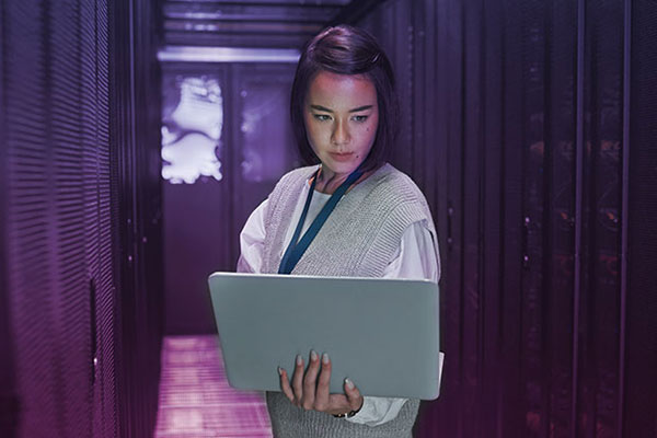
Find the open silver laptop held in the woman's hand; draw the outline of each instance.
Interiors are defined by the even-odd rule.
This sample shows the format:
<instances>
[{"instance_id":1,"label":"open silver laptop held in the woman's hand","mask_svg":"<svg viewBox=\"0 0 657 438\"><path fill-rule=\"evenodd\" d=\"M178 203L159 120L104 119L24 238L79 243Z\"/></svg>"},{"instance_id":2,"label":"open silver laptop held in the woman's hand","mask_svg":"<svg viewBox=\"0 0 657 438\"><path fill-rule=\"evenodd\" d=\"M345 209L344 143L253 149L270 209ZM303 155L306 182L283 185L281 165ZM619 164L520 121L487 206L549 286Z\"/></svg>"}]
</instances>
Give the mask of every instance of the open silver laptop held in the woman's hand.
<instances>
[{"instance_id":1,"label":"open silver laptop held in the woman's hand","mask_svg":"<svg viewBox=\"0 0 657 438\"><path fill-rule=\"evenodd\" d=\"M438 285L429 280L215 273L209 279L231 387L280 391L295 357L327 353L331 393L434 400L440 390Z\"/></svg>"}]
</instances>

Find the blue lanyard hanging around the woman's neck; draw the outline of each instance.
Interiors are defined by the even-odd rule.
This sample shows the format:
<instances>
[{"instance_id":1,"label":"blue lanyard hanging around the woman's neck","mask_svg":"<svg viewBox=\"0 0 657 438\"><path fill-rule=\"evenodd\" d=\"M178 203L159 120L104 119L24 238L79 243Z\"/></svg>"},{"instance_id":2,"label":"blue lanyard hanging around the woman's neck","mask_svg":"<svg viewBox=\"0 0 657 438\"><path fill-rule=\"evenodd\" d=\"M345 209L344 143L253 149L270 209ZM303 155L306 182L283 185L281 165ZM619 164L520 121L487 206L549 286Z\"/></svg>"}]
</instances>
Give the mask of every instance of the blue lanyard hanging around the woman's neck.
<instances>
[{"instance_id":1,"label":"blue lanyard hanging around the woman's neck","mask_svg":"<svg viewBox=\"0 0 657 438\"><path fill-rule=\"evenodd\" d=\"M342 183L342 185L337 187L335 193L333 193L331 198L328 198L328 201L326 201L318 217L313 220L310 228L306 231L306 233L301 238L301 241L297 243L297 241L299 240L299 234L301 234L303 223L306 222L306 216L308 215L310 200L312 199L312 194L314 192L314 186L318 181L319 173L320 171L318 170L318 172L314 174L312 185L310 186L310 192L308 193L308 197L306 198L306 206L303 207L303 212L301 214L301 218L299 218L299 223L297 224L297 229L295 230L292 240L290 241L290 244L288 245L287 250L285 251L285 255L280 261L278 274L290 274L292 272L292 269L295 268L295 266L297 266L297 263L299 262L306 250L308 250L310 242L312 242L315 235L318 235L318 232L320 231L326 219L328 219L328 215L331 215L331 212L337 205L337 201L343 197L345 192L347 192L349 186L362 175L362 172L358 169L351 172L347 180L344 183Z\"/></svg>"}]
</instances>

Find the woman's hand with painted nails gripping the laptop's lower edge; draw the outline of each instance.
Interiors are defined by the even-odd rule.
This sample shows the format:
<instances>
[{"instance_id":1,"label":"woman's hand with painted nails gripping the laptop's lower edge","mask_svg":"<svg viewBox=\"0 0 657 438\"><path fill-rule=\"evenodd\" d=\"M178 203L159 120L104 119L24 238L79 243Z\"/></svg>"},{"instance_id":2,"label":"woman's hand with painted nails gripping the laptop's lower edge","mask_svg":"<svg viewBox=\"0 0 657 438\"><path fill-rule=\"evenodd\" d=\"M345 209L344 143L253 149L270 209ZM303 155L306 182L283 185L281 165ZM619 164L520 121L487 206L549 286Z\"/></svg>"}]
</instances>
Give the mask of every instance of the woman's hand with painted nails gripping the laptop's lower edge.
<instances>
[{"instance_id":1,"label":"woman's hand with painted nails gripping the laptop's lower edge","mask_svg":"<svg viewBox=\"0 0 657 438\"><path fill-rule=\"evenodd\" d=\"M297 366L292 376L292 385L285 369L278 368L280 374L280 388L288 400L306 411L319 411L327 414L344 414L349 411L358 411L362 406L364 399L358 388L345 379L344 394L330 394L331 383L331 359L327 354L322 355L322 370L320 371L320 358L315 351L310 351L310 365L303 376L303 358L297 356ZM319 379L318 379L319 372ZM351 388L349 388L351 383Z\"/></svg>"}]
</instances>

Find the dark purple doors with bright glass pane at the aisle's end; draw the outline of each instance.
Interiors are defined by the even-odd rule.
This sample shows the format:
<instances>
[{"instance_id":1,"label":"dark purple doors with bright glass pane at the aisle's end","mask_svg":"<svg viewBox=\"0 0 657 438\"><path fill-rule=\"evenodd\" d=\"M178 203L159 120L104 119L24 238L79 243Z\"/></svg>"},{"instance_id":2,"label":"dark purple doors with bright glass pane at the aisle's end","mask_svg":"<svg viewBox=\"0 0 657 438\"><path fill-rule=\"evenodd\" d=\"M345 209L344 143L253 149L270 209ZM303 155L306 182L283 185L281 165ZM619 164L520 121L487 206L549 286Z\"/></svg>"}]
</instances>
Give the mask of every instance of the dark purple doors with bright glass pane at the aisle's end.
<instances>
[{"instance_id":1,"label":"dark purple doors with bright glass pane at the aisle's end","mask_svg":"<svg viewBox=\"0 0 657 438\"><path fill-rule=\"evenodd\" d=\"M235 269L249 215L280 175L299 165L289 124L293 68L266 61L162 65L169 334L216 333L207 277ZM189 83L196 95L186 90ZM185 157L192 165L185 166ZM211 174L203 171L212 166ZM189 169L188 181L181 180Z\"/></svg>"}]
</instances>

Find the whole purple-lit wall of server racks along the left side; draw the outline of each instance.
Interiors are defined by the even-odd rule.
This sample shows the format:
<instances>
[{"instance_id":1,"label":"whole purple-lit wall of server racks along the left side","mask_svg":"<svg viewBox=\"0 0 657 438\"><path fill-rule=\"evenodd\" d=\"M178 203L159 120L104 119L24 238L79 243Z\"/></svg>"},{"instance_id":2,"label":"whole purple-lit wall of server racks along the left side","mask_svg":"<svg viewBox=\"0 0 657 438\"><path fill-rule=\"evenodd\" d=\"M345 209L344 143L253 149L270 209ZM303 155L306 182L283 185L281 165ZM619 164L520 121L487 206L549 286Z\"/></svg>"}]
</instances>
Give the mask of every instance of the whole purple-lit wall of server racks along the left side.
<instances>
[{"instance_id":1,"label":"whole purple-lit wall of server racks along the left side","mask_svg":"<svg viewBox=\"0 0 657 438\"><path fill-rule=\"evenodd\" d=\"M0 3L3 437L114 437L131 419L123 406L141 410L143 426L134 436L154 426L160 162L158 119L152 124L158 93L145 84L158 81L130 76L130 67L119 77L116 66L141 50L146 69L154 71L157 33L148 25L152 16L117 11L104 0ZM130 26L147 37L130 38L134 33L124 33ZM119 34L127 44L116 44ZM130 95L131 87L143 94ZM128 90L131 99L119 102L111 90ZM137 124L122 118L127 111L138 114ZM126 139L138 139L139 148L127 151L137 141ZM130 153L129 161L120 159ZM125 173L139 175L140 184L120 180ZM138 249L146 267L137 278L122 275L130 263L124 255L136 245L120 240L135 237L122 221L126 206L135 205L140 224L147 223L140 243L152 247ZM135 297L141 307L124 312ZM139 344L130 343L138 336ZM135 361L127 366L125 358ZM141 384L126 385L130 379Z\"/></svg>"}]
</instances>

